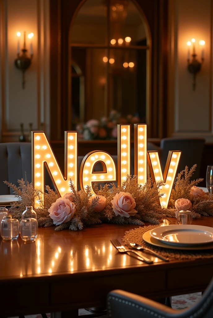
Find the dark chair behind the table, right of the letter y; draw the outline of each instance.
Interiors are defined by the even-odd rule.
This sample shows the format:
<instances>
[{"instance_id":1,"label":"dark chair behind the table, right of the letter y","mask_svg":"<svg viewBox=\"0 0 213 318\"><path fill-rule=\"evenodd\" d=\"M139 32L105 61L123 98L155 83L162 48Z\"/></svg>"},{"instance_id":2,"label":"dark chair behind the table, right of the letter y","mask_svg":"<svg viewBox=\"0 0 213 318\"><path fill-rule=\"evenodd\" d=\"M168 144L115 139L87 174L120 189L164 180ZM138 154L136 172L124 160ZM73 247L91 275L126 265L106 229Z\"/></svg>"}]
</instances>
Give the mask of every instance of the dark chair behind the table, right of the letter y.
<instances>
[{"instance_id":1,"label":"dark chair behind the table, right of the letter y","mask_svg":"<svg viewBox=\"0 0 213 318\"><path fill-rule=\"evenodd\" d=\"M200 177L200 167L203 155L205 139L203 138L163 138L160 142L161 165L164 170L169 150L181 150L182 155L178 167L178 172L185 169L185 166L191 168L195 163L197 169L193 179Z\"/></svg>"}]
</instances>

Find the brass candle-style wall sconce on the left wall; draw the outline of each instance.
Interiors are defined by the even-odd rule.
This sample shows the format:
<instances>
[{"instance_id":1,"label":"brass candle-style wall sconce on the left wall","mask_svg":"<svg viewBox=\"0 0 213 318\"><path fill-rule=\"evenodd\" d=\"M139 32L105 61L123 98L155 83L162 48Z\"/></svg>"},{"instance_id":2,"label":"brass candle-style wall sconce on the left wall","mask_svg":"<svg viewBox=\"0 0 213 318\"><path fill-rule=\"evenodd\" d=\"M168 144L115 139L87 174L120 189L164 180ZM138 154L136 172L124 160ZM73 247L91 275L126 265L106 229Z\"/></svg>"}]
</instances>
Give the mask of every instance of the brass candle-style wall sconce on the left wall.
<instances>
[{"instance_id":1,"label":"brass candle-style wall sconce on the left wall","mask_svg":"<svg viewBox=\"0 0 213 318\"><path fill-rule=\"evenodd\" d=\"M30 43L30 58L27 56L27 49L26 49L26 32L24 32L24 47L22 49L22 55L20 55L20 43L19 37L21 36L20 32L17 32L18 43L17 43L17 59L15 59L15 66L22 71L22 88L25 88L25 71L29 68L32 58L33 58L33 48L32 42ZM34 36L33 33L28 34L28 38L31 39Z\"/></svg>"}]
</instances>

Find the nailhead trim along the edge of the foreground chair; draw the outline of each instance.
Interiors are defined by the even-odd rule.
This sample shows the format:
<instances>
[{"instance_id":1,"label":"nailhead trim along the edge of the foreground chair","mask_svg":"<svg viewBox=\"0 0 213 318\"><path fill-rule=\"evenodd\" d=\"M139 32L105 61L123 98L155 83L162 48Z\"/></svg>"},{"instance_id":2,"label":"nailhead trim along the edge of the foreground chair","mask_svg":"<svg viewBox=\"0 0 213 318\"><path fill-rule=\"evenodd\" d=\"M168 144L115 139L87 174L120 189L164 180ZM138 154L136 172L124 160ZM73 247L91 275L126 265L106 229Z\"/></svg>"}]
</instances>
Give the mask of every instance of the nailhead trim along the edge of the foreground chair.
<instances>
[{"instance_id":1,"label":"nailhead trim along the edge of the foreground chair","mask_svg":"<svg viewBox=\"0 0 213 318\"><path fill-rule=\"evenodd\" d=\"M210 303L211 299L213 298L213 292L210 294L210 296L207 298L207 300L204 302L203 306L197 310L197 312L195 312L193 315L190 315L189 317L187 318L194 318L194 317L197 317L197 314L200 314L203 312L203 309ZM158 313L154 313L153 311L150 311L149 309L146 309L146 308L143 308L143 307L139 307L139 305L136 305L130 301L125 301L125 300L122 300L120 298L117 298L117 297L114 297L114 296L109 296L108 298L108 313L109 313L109 317L112 317L112 314L111 314L111 303L110 303L110 299L112 300L115 300L115 301L119 301L119 302L123 302L124 304L126 305L129 305L129 306L132 306L132 307L136 307L136 308L139 308L140 310L143 310L143 311L146 311L148 314L154 316L154 317L158 317L158 318L165 318L164 316L161 316L161 315L158 315Z\"/></svg>"}]
</instances>

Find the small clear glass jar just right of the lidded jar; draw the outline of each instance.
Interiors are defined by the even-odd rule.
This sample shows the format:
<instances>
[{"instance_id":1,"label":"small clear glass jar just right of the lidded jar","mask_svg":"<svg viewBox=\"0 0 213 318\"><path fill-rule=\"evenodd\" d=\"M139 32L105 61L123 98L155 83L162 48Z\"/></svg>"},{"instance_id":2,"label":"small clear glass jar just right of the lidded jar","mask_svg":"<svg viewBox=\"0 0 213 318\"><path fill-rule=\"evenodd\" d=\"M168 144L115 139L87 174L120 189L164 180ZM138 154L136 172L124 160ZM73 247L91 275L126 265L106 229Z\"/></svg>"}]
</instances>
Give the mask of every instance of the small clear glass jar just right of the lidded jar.
<instances>
[{"instance_id":1,"label":"small clear glass jar just right of the lidded jar","mask_svg":"<svg viewBox=\"0 0 213 318\"><path fill-rule=\"evenodd\" d=\"M24 218L21 220L20 235L24 242L33 242L38 234L38 221L36 218Z\"/></svg>"}]
</instances>

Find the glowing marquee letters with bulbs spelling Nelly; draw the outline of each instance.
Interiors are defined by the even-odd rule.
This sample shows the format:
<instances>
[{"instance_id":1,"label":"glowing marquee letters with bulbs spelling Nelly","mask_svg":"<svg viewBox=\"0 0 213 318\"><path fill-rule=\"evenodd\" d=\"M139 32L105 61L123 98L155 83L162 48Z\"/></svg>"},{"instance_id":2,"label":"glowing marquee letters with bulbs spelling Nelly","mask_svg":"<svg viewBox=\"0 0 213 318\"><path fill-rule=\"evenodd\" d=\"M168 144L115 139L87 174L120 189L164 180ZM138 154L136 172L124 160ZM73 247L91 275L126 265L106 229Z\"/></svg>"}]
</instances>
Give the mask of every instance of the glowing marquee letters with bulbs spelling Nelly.
<instances>
[{"instance_id":1,"label":"glowing marquee letters with bulbs spelling Nelly","mask_svg":"<svg viewBox=\"0 0 213 318\"><path fill-rule=\"evenodd\" d=\"M65 168L62 174L48 138L43 131L32 132L32 180L36 189L44 192L44 168L48 169L55 189L60 196L70 192L69 180L78 187L78 133L65 131ZM134 124L134 174L138 176L138 184L144 185L147 180L147 162L153 182L164 181L160 189L163 196L160 204L168 205L171 190L177 174L181 151L169 151L164 173L161 168L158 151L147 151L146 124ZM85 190L91 187L94 193L94 182L113 182L121 184L130 175L131 158L131 125L118 125L118 173L113 157L106 151L94 150L88 153L81 162L80 185ZM94 172L94 165L101 162L103 171ZM116 176L117 175L117 176ZM43 200L43 196L42 196ZM35 199L36 206L39 201Z\"/></svg>"}]
</instances>

